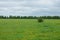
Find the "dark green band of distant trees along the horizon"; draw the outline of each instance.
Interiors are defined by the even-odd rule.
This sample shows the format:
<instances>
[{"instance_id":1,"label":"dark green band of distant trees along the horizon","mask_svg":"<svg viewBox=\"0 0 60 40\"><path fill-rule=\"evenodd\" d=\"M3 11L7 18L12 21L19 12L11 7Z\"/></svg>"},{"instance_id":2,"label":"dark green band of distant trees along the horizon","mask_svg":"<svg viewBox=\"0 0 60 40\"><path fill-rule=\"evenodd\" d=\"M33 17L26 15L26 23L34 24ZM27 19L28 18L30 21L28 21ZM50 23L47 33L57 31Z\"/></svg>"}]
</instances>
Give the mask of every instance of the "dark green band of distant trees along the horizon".
<instances>
[{"instance_id":1,"label":"dark green band of distant trees along the horizon","mask_svg":"<svg viewBox=\"0 0 60 40\"><path fill-rule=\"evenodd\" d=\"M60 16L0 16L0 19L60 19Z\"/></svg>"}]
</instances>

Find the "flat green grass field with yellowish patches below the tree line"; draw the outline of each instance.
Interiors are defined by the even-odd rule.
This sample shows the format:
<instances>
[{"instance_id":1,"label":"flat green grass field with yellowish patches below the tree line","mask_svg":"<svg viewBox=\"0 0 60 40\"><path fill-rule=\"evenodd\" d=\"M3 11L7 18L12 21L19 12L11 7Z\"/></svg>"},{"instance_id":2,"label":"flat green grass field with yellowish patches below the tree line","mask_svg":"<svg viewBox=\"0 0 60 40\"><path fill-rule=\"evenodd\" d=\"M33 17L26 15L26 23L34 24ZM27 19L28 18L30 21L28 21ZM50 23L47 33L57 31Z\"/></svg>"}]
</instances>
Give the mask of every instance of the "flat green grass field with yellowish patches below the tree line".
<instances>
[{"instance_id":1,"label":"flat green grass field with yellowish patches below the tree line","mask_svg":"<svg viewBox=\"0 0 60 40\"><path fill-rule=\"evenodd\" d=\"M0 40L60 40L60 19L0 19Z\"/></svg>"}]
</instances>

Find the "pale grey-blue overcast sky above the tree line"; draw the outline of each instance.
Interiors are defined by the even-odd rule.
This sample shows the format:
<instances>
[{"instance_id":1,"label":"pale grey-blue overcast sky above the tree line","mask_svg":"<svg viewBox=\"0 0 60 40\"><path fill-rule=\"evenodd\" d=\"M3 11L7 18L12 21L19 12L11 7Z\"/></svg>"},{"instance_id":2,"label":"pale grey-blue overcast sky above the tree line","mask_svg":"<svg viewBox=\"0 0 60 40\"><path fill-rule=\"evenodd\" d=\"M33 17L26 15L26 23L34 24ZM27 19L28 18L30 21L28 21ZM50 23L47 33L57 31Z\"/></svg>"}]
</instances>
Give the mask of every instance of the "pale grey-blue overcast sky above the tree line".
<instances>
[{"instance_id":1,"label":"pale grey-blue overcast sky above the tree line","mask_svg":"<svg viewBox=\"0 0 60 40\"><path fill-rule=\"evenodd\" d=\"M0 0L0 15L60 16L60 0Z\"/></svg>"}]
</instances>

